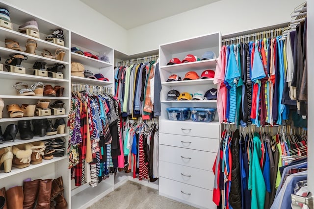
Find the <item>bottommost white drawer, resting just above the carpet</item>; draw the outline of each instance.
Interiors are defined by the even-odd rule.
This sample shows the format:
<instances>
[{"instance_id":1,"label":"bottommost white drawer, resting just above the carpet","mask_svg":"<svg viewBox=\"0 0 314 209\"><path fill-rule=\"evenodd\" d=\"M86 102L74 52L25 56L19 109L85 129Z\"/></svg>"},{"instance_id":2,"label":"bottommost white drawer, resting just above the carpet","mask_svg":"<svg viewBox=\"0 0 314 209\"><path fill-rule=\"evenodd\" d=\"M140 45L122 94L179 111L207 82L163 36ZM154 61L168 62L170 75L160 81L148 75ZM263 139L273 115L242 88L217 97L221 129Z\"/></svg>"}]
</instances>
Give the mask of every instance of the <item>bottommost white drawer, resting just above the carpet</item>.
<instances>
[{"instance_id":1,"label":"bottommost white drawer, resting just above the carpet","mask_svg":"<svg viewBox=\"0 0 314 209\"><path fill-rule=\"evenodd\" d=\"M212 191L210 190L190 186L163 177L159 177L158 184L159 195L182 201L183 203L191 203L194 206L197 205L202 208L216 208L216 205L212 202Z\"/></svg>"}]
</instances>

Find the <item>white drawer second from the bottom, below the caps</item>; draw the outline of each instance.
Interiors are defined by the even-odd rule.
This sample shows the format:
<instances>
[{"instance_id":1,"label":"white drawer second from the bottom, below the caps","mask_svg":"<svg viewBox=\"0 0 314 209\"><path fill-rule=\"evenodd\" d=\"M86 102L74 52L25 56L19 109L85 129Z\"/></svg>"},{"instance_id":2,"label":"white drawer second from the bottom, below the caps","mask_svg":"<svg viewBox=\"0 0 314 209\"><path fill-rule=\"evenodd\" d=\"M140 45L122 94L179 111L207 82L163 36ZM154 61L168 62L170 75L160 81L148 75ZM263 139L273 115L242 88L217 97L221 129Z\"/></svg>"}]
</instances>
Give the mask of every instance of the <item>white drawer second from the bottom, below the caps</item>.
<instances>
[{"instance_id":1,"label":"white drawer second from the bottom, below the caps","mask_svg":"<svg viewBox=\"0 0 314 209\"><path fill-rule=\"evenodd\" d=\"M213 189L214 173L174 163L159 162L159 176L192 186Z\"/></svg>"}]
</instances>

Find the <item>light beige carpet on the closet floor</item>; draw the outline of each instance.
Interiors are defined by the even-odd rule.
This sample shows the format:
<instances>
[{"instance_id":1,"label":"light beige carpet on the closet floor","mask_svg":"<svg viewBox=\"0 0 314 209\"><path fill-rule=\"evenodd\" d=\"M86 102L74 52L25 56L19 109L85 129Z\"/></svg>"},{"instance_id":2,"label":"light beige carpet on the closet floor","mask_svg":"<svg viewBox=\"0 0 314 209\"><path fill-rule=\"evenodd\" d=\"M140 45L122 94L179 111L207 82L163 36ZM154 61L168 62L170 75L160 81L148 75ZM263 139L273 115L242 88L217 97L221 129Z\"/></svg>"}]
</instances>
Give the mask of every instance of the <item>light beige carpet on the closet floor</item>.
<instances>
[{"instance_id":1,"label":"light beige carpet on the closet floor","mask_svg":"<svg viewBox=\"0 0 314 209\"><path fill-rule=\"evenodd\" d=\"M196 209L159 196L158 190L128 181L88 209Z\"/></svg>"}]
</instances>

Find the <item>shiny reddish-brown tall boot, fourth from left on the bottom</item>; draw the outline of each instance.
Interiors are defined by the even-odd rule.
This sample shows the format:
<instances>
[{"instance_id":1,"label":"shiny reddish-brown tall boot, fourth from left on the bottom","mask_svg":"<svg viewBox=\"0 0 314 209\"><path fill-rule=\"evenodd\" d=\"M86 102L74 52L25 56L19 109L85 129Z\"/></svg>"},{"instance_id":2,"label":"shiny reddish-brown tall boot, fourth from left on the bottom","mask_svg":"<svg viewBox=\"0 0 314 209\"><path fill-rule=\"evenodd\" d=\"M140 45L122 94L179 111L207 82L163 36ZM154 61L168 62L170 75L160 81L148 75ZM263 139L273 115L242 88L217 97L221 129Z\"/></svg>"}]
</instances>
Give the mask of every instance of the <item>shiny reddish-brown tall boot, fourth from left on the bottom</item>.
<instances>
[{"instance_id":1,"label":"shiny reddish-brown tall boot, fourth from left on the bottom","mask_svg":"<svg viewBox=\"0 0 314 209\"><path fill-rule=\"evenodd\" d=\"M52 179L40 180L36 209L50 209Z\"/></svg>"}]
</instances>

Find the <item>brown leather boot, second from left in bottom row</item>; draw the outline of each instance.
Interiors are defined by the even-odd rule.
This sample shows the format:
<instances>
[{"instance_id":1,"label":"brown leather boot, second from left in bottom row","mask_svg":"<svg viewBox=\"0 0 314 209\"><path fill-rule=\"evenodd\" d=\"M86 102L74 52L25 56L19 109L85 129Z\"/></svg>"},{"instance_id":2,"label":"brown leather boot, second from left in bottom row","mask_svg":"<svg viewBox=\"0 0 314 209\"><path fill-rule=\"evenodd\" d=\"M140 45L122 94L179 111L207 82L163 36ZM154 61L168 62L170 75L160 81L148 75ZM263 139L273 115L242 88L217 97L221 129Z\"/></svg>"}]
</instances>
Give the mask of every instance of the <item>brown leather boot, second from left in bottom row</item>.
<instances>
[{"instance_id":1,"label":"brown leather boot, second from left in bottom row","mask_svg":"<svg viewBox=\"0 0 314 209\"><path fill-rule=\"evenodd\" d=\"M6 192L6 204L8 209L23 209L23 188L22 186L14 186Z\"/></svg>"}]
</instances>

